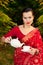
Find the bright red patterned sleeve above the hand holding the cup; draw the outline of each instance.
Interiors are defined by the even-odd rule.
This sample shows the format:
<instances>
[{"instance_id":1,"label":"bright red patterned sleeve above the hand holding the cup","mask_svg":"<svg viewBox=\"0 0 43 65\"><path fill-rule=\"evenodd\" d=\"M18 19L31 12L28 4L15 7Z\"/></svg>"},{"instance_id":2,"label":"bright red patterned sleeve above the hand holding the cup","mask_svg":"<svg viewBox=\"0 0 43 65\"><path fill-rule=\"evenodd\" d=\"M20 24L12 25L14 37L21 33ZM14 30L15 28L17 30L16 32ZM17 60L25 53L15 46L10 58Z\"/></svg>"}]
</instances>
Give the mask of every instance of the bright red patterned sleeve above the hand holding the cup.
<instances>
[{"instance_id":1,"label":"bright red patterned sleeve above the hand holding the cup","mask_svg":"<svg viewBox=\"0 0 43 65\"><path fill-rule=\"evenodd\" d=\"M35 45L39 50L43 50L43 42L42 42L42 37L40 34L40 31L38 30L36 35L35 35Z\"/></svg>"}]
</instances>

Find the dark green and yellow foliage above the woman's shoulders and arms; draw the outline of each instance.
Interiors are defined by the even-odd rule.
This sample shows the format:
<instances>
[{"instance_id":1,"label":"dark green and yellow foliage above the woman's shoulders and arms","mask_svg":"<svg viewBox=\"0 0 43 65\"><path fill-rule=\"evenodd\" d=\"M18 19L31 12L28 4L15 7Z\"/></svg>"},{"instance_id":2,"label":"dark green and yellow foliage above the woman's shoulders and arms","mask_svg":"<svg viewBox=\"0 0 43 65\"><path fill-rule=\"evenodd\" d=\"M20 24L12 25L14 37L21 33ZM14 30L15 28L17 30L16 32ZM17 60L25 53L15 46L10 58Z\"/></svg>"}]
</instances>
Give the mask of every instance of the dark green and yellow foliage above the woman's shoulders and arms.
<instances>
[{"instance_id":1,"label":"dark green and yellow foliage above the woman's shoulders and arms","mask_svg":"<svg viewBox=\"0 0 43 65\"><path fill-rule=\"evenodd\" d=\"M39 27L41 34L43 36L43 30L42 30L43 0L0 0L1 36L14 25L21 24L21 11L25 7L33 8L35 12L34 25Z\"/></svg>"}]
</instances>

